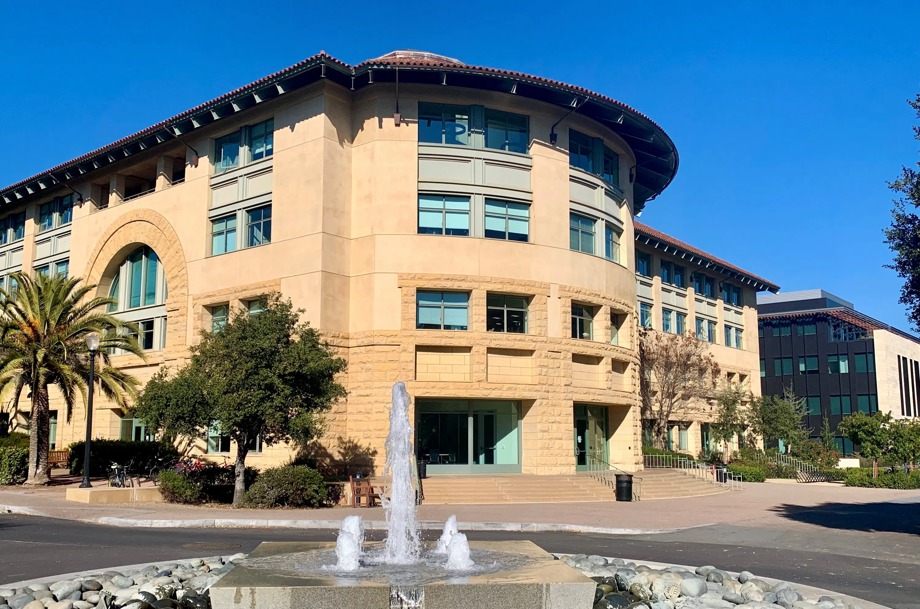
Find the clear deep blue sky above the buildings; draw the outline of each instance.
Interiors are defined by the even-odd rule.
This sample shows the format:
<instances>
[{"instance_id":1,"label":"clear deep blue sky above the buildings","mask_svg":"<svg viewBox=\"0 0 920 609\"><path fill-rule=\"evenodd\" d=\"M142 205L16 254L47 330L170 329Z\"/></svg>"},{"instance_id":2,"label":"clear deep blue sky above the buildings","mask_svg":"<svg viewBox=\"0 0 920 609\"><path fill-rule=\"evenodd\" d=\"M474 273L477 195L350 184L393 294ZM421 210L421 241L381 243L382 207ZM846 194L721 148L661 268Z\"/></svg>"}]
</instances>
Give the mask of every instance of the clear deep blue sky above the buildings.
<instances>
[{"instance_id":1,"label":"clear deep blue sky above the buildings","mask_svg":"<svg viewBox=\"0 0 920 609\"><path fill-rule=\"evenodd\" d=\"M2 186L320 49L439 52L648 114L681 165L643 222L907 329L881 229L885 181L920 147L904 102L920 91L915 1L13 4Z\"/></svg>"}]
</instances>

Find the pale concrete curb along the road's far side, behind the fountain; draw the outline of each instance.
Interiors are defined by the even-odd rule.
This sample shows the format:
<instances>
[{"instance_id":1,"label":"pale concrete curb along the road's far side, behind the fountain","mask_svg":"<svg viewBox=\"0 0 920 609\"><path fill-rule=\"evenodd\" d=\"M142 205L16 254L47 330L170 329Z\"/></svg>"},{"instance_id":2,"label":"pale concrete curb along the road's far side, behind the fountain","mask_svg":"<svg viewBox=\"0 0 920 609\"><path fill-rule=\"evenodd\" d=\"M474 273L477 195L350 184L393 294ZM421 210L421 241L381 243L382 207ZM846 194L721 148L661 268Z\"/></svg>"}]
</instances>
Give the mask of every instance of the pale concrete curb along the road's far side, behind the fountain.
<instances>
[{"instance_id":1,"label":"pale concrete curb along the road's far side, behind the fountain","mask_svg":"<svg viewBox=\"0 0 920 609\"><path fill-rule=\"evenodd\" d=\"M55 518L32 508L16 505L0 504L0 511L8 513L27 514L29 516L43 516ZM108 524L125 528L153 528L153 529L190 529L190 528L240 528L240 529L338 529L340 520L276 520L262 518L201 518L193 520L153 520L144 518L119 518L116 516L101 516L99 518L74 518L80 523ZM457 528L461 531L505 531L519 533L594 533L605 535L647 535L660 533L676 533L687 529L697 529L712 526L715 523L696 524L694 526L681 526L670 529L638 529L605 526L591 526L588 524L565 523L467 523L458 522ZM419 521L419 527L424 530L443 529L443 521ZM364 521L364 528L370 531L385 531L386 522L382 520Z\"/></svg>"}]
</instances>

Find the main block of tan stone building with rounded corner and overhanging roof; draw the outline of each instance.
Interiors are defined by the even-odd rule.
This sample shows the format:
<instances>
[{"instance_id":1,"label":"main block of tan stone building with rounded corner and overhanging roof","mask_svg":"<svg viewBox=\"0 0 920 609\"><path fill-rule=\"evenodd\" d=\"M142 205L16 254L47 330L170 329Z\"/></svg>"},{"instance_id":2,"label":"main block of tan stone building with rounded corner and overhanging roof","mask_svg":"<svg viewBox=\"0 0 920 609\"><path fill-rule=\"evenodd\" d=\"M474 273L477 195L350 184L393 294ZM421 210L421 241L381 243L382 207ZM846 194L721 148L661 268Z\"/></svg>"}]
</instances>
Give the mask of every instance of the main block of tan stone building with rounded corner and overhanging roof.
<instances>
[{"instance_id":1,"label":"main block of tan stone building with rounded corner and overhanging roof","mask_svg":"<svg viewBox=\"0 0 920 609\"><path fill-rule=\"evenodd\" d=\"M637 303L663 291L637 281L633 216L676 169L658 125L577 86L431 53L320 53L0 190L0 274L97 282L139 323L147 362L115 361L141 379L280 291L348 361L349 395L307 449L329 462L381 468L405 381L430 473L564 474L590 455L635 470ZM753 327L747 306L731 314ZM719 358L750 373L748 355ZM59 412L66 446L84 413ZM146 433L101 400L94 432ZM257 446L247 463L299 450Z\"/></svg>"}]
</instances>

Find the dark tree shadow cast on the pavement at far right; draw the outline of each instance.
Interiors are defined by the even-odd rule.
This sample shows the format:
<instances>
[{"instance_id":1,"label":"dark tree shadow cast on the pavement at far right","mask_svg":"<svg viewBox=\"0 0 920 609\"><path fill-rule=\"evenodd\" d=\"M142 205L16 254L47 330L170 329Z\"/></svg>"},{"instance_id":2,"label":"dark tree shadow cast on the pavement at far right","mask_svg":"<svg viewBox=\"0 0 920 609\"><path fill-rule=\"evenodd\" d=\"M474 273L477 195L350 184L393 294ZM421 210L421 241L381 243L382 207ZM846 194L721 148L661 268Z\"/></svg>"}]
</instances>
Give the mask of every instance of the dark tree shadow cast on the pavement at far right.
<instances>
[{"instance_id":1,"label":"dark tree shadow cast on the pavement at far right","mask_svg":"<svg viewBox=\"0 0 920 609\"><path fill-rule=\"evenodd\" d=\"M783 518L829 529L868 533L920 534L920 497L903 503L822 503L814 507L777 505L771 508Z\"/></svg>"}]
</instances>

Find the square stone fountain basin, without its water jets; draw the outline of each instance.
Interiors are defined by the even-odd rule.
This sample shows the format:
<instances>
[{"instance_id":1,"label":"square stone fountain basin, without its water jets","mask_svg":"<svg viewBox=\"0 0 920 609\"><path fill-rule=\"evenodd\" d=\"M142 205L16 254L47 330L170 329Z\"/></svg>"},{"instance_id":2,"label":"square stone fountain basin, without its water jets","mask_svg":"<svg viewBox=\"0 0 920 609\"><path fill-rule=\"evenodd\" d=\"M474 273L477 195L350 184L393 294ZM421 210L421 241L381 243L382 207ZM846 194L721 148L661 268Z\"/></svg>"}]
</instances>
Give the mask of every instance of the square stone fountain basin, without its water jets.
<instances>
[{"instance_id":1,"label":"square stone fountain basin, without its water jets","mask_svg":"<svg viewBox=\"0 0 920 609\"><path fill-rule=\"evenodd\" d=\"M442 575L412 582L374 568L360 576L256 567L259 559L297 554L324 557L334 542L264 542L211 588L213 609L591 609L596 583L529 541L470 542L479 557L493 555L497 570ZM365 544L373 552L382 544ZM301 554L304 553L304 554ZM492 554L494 553L494 554ZM503 561L503 562L502 562ZM250 564L247 564L250 563ZM503 564L512 564L503 569ZM406 573L413 566L405 566Z\"/></svg>"}]
</instances>

